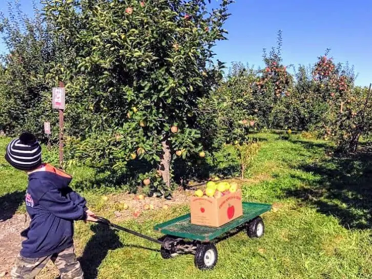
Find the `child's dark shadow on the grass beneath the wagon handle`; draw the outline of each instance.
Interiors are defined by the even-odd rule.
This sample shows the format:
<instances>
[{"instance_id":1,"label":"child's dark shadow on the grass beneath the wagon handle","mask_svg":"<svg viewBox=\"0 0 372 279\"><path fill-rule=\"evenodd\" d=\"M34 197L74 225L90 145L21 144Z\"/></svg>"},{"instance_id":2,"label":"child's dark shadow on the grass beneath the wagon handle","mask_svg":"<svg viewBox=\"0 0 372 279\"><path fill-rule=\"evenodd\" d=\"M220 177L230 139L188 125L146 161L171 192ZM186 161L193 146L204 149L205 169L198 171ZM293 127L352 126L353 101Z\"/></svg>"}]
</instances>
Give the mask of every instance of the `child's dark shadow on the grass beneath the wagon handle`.
<instances>
[{"instance_id":1,"label":"child's dark shadow on the grass beneath the wagon handle","mask_svg":"<svg viewBox=\"0 0 372 279\"><path fill-rule=\"evenodd\" d=\"M85 278L97 278L98 267L108 251L124 247L115 230L98 224L92 225L91 230L95 234L90 238L79 258Z\"/></svg>"}]
</instances>

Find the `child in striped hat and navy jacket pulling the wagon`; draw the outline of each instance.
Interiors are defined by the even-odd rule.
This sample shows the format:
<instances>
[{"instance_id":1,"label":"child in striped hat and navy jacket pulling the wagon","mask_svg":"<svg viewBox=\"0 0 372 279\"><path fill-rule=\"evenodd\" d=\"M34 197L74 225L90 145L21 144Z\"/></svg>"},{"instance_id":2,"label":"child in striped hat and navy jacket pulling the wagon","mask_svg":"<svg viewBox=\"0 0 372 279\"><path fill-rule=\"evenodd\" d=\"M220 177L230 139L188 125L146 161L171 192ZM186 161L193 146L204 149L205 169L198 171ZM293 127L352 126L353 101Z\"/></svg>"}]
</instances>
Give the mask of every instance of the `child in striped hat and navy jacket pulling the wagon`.
<instances>
[{"instance_id":1,"label":"child in striped hat and navy jacket pulling the wagon","mask_svg":"<svg viewBox=\"0 0 372 279\"><path fill-rule=\"evenodd\" d=\"M69 187L72 177L42 163L42 147L28 132L8 144L5 158L28 174L25 200L31 218L29 227L21 233L26 240L11 271L12 278L34 278L51 260L61 279L83 279L74 252L74 221L97 220L85 198Z\"/></svg>"}]
</instances>

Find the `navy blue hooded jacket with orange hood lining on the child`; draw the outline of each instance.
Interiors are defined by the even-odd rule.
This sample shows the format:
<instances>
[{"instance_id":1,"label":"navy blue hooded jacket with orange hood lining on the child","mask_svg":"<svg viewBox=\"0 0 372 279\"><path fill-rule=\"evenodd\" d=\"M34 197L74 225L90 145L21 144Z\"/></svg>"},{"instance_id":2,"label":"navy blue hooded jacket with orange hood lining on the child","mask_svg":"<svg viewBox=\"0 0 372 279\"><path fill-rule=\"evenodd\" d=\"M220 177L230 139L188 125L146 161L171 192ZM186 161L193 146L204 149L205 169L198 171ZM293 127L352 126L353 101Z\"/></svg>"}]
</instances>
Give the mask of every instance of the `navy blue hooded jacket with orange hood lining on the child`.
<instances>
[{"instance_id":1,"label":"navy blue hooded jacket with orange hood lining on the child","mask_svg":"<svg viewBox=\"0 0 372 279\"><path fill-rule=\"evenodd\" d=\"M73 245L74 221L85 220L86 200L68 185L72 177L46 165L44 170L29 174L26 209L30 226L23 232L27 240L20 254L43 257L59 253Z\"/></svg>"}]
</instances>

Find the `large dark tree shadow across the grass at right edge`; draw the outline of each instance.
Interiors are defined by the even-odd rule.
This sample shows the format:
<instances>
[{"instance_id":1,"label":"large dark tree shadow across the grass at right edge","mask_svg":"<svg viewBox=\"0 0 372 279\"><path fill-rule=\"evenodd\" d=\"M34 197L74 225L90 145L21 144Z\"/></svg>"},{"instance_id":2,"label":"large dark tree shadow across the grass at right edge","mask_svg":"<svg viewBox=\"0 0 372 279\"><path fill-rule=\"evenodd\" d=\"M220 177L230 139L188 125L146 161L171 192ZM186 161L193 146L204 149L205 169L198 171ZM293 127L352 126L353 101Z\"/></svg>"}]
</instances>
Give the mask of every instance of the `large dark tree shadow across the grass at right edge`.
<instances>
[{"instance_id":1,"label":"large dark tree shadow across the grass at right edge","mask_svg":"<svg viewBox=\"0 0 372 279\"><path fill-rule=\"evenodd\" d=\"M307 148L325 148L322 144L305 143ZM286 191L301 203L315 207L319 212L339 219L348 229L372 228L372 152L365 146L349 157L333 156L299 169L316 178L304 178L305 187ZM313 176L313 178L314 178Z\"/></svg>"}]
</instances>

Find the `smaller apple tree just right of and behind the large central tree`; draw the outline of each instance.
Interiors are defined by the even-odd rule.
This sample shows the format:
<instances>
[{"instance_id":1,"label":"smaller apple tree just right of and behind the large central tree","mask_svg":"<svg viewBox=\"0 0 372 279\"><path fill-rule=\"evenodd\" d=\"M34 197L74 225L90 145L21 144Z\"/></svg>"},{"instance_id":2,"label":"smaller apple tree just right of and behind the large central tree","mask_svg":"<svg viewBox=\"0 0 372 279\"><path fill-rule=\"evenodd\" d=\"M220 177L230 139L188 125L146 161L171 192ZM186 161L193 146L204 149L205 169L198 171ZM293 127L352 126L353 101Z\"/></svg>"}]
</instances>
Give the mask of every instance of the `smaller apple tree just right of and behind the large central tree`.
<instances>
[{"instance_id":1,"label":"smaller apple tree just right of and behind the large central tree","mask_svg":"<svg viewBox=\"0 0 372 279\"><path fill-rule=\"evenodd\" d=\"M233 63L218 88L200 102L202 141L217 151L225 143L242 143L258 125L254 116L252 85L256 73L241 63Z\"/></svg>"}]
</instances>

